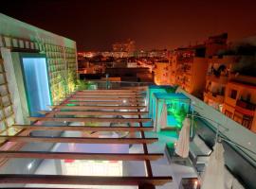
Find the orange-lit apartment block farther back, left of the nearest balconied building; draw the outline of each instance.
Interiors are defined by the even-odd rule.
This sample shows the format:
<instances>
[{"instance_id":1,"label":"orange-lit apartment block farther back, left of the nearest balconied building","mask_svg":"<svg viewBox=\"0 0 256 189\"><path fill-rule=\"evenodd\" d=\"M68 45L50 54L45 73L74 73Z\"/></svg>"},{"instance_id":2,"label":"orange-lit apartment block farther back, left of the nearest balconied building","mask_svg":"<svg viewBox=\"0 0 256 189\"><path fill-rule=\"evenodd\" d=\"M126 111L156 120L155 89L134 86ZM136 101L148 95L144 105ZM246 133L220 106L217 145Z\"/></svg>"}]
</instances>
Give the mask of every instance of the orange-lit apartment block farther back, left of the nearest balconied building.
<instances>
[{"instance_id":1,"label":"orange-lit apartment block farther back, left of the nearest balconied building","mask_svg":"<svg viewBox=\"0 0 256 189\"><path fill-rule=\"evenodd\" d=\"M179 85L190 94L200 96L205 86L207 59L197 52L201 46L177 48L169 60L155 62L157 85Z\"/></svg>"}]
</instances>

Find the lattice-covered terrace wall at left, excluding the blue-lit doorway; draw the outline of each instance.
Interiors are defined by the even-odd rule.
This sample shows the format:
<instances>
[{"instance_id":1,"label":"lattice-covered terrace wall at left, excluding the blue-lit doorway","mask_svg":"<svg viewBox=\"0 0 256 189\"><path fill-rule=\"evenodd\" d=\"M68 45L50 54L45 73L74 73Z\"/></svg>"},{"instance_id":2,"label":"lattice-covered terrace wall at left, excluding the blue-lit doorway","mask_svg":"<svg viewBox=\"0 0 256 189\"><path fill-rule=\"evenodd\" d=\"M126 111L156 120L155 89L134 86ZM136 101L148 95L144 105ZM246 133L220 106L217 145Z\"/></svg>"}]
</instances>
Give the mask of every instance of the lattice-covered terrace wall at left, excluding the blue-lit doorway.
<instances>
[{"instance_id":1,"label":"lattice-covered terrace wall at left, excluding the blue-lit doorway","mask_svg":"<svg viewBox=\"0 0 256 189\"><path fill-rule=\"evenodd\" d=\"M19 52L42 54L46 56L50 94L53 104L58 104L66 95L75 89L77 78L76 43L62 36L50 33L36 26L30 26L0 13L0 47L4 60L11 108L15 122L24 123L27 117L24 94L17 93L21 88L16 75L19 67ZM14 72L14 69L16 71ZM0 91L2 89L0 88ZM25 92L24 89L19 89ZM21 100L22 97L22 100ZM9 122L8 127L13 122ZM0 122L1 125L1 122Z\"/></svg>"}]
</instances>

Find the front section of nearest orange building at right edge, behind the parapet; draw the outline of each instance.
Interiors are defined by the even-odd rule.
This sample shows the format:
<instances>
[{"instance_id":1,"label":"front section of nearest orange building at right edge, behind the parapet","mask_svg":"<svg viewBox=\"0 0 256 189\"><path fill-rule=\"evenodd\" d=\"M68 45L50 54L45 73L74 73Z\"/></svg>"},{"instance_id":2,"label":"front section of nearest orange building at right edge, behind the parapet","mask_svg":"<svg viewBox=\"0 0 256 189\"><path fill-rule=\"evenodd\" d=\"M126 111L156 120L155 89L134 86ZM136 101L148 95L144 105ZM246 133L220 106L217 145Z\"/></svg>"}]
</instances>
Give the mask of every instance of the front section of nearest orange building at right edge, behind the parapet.
<instances>
[{"instance_id":1,"label":"front section of nearest orange building at right edge, behind the parapet","mask_svg":"<svg viewBox=\"0 0 256 189\"><path fill-rule=\"evenodd\" d=\"M222 112L256 132L256 77L239 76L227 83Z\"/></svg>"}]
</instances>

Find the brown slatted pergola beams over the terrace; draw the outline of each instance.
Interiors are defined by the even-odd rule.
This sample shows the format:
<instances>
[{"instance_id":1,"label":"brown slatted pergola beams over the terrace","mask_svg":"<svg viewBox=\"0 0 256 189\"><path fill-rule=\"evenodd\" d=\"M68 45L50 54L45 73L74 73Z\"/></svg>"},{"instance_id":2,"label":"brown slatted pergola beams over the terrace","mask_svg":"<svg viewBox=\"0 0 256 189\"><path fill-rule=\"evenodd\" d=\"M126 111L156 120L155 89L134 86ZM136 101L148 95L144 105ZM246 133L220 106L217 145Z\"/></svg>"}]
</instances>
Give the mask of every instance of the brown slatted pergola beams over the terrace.
<instances>
[{"instance_id":1,"label":"brown slatted pergola beams over the terrace","mask_svg":"<svg viewBox=\"0 0 256 189\"><path fill-rule=\"evenodd\" d=\"M105 93L105 96L119 95L119 93L135 92L136 90L99 90L89 92L77 92L76 94L86 93ZM43 143L85 143L85 144L139 144L143 146L143 153L75 153L75 152L45 152L45 151L19 151L19 148L10 148L9 150L0 150L0 158L9 160L9 158L36 158L36 159L74 159L74 160L116 160L116 161L143 161L145 163L145 177L91 177L91 176L60 176L60 175L1 175L0 183L43 183L43 184L88 184L88 185L138 185L138 188L155 188L155 185L162 185L168 181L172 181L172 177L155 177L153 175L150 161L155 161L163 154L149 153L147 144L157 141L157 138L146 138L145 132L153 129L153 127L144 127L143 122L151 121L150 118L142 118L141 115L148 112L141 112L145 106L139 106L137 102L134 106L65 106L64 104L72 98L71 94L64 102L58 106L54 106L50 112L43 112L43 117L30 117L33 120L32 125L13 125L15 129L21 129L15 136L0 136L0 139L5 141L1 146L7 142L14 142L16 144L24 144L31 142ZM108 95L111 94L111 95ZM126 95L125 95L126 96ZM94 97L100 98L100 97ZM107 98L104 97L103 100ZM127 99L122 96L121 99ZM115 104L115 102L114 102ZM63 111L68 110L68 111ZM97 110L96 112L94 112ZM106 111L112 110L112 111ZM115 111L114 111L115 110ZM119 112L125 110L126 112ZM133 112L128 112L133 110ZM61 117L58 117L58 115ZM68 117L66 116L68 115ZM72 117L70 117L70 115ZM74 117L85 115L86 117ZM99 115L100 117L92 117L90 115ZM101 117L102 115L132 115L132 118L109 118ZM137 123L138 126L131 127L93 127L93 126L58 126L56 123L53 126L35 125L38 123L51 122L111 122L111 123ZM33 130L78 130L78 131L128 131L140 132L140 138L91 138L91 137L38 137L29 136ZM1 147L0 146L0 147ZM3 149L3 148L2 148ZM0 159L0 160L1 160ZM0 165L3 163L0 162Z\"/></svg>"}]
</instances>

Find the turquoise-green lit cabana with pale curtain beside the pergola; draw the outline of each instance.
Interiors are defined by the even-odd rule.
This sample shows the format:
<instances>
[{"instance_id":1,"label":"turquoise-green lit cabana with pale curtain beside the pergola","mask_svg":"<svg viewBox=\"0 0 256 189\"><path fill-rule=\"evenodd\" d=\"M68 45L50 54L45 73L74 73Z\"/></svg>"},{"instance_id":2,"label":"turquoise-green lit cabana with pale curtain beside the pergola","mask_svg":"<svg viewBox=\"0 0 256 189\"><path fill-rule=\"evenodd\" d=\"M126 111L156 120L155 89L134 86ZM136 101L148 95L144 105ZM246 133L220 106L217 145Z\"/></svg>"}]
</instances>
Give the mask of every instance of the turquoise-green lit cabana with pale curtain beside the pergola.
<instances>
[{"instance_id":1,"label":"turquoise-green lit cabana with pale curtain beside the pergola","mask_svg":"<svg viewBox=\"0 0 256 189\"><path fill-rule=\"evenodd\" d=\"M155 93L152 110L155 130L177 129L190 110L191 99L184 94Z\"/></svg>"}]
</instances>

